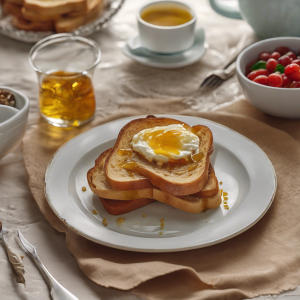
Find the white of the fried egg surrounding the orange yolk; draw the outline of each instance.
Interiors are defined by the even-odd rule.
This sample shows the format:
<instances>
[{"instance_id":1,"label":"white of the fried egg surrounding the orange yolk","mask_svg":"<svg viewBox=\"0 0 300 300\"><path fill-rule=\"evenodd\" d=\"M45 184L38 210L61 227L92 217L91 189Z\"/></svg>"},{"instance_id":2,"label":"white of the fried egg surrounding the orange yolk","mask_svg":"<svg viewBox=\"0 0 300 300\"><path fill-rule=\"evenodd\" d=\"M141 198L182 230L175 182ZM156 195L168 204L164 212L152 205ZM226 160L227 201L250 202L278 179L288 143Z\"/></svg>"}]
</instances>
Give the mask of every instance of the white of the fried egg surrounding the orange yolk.
<instances>
[{"instance_id":1,"label":"white of the fried egg surrounding the orange yolk","mask_svg":"<svg viewBox=\"0 0 300 300\"><path fill-rule=\"evenodd\" d=\"M164 130L164 132L167 132L169 130L176 130L180 131L180 149L179 154L170 153L170 157L162 155L162 154L156 154L154 153L154 149L152 149L147 141L143 140L143 135L147 135L149 133L153 133L158 130ZM140 132L138 132L132 139L131 147L134 151L140 153L143 157L145 157L148 161L152 162L153 160L156 161L159 165L162 165L163 163L169 162L170 158L174 160L179 159L185 159L188 160L188 158L197 150L199 149L199 138L192 132L186 130L182 125L180 124L172 124L168 126L157 126L153 128L144 129Z\"/></svg>"}]
</instances>

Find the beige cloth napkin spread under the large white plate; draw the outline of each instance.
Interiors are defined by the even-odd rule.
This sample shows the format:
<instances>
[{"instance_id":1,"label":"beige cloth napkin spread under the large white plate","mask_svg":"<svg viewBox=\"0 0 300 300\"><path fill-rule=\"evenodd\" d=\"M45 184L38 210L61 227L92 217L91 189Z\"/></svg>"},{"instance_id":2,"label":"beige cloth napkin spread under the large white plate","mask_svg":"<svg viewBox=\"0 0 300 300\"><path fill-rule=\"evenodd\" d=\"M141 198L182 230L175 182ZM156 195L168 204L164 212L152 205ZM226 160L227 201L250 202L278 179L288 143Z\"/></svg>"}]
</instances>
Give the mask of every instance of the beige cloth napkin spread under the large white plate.
<instances>
[{"instance_id":1,"label":"beige cloth napkin spread under the large white plate","mask_svg":"<svg viewBox=\"0 0 300 300\"><path fill-rule=\"evenodd\" d=\"M218 245L175 253L136 253L95 244L71 231L44 197L45 168L65 141L108 120L137 114L204 117L257 143L276 170L278 189L266 215L252 228ZM222 112L198 113L181 100L139 99L81 129L57 129L44 121L26 134L23 153L29 187L50 224L66 234L84 274L105 287L134 289L146 299L244 299L280 293L300 284L300 122L273 118L240 101ZM234 215L232 216L234 217Z\"/></svg>"}]
</instances>

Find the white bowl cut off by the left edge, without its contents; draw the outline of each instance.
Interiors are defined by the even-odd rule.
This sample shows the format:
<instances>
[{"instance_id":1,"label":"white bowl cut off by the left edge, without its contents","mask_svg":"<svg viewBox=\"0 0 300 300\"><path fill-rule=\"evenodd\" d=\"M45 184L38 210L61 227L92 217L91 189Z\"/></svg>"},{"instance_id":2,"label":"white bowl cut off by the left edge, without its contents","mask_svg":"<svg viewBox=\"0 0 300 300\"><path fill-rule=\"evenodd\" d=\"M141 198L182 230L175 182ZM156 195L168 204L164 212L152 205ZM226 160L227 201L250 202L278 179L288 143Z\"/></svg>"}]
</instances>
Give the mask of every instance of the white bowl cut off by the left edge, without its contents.
<instances>
[{"instance_id":1,"label":"white bowl cut off by the left edge, without its contents","mask_svg":"<svg viewBox=\"0 0 300 300\"><path fill-rule=\"evenodd\" d=\"M0 86L12 92L16 99L16 108L0 105L0 158L17 147L26 131L29 100L28 98L6 86Z\"/></svg>"}]
</instances>

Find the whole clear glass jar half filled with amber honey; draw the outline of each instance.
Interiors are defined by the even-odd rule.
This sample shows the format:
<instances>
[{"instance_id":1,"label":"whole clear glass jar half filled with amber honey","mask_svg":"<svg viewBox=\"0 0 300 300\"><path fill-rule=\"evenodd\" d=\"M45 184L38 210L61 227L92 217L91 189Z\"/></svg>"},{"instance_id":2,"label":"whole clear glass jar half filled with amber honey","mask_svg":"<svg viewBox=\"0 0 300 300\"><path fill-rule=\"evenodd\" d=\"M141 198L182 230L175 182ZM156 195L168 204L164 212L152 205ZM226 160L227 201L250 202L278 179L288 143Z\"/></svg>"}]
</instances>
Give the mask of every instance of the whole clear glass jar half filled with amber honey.
<instances>
[{"instance_id":1,"label":"whole clear glass jar half filled with amber honey","mask_svg":"<svg viewBox=\"0 0 300 300\"><path fill-rule=\"evenodd\" d=\"M98 45L72 34L56 34L33 46L29 63L39 82L42 116L57 127L90 121L96 109L92 77L100 62Z\"/></svg>"}]
</instances>

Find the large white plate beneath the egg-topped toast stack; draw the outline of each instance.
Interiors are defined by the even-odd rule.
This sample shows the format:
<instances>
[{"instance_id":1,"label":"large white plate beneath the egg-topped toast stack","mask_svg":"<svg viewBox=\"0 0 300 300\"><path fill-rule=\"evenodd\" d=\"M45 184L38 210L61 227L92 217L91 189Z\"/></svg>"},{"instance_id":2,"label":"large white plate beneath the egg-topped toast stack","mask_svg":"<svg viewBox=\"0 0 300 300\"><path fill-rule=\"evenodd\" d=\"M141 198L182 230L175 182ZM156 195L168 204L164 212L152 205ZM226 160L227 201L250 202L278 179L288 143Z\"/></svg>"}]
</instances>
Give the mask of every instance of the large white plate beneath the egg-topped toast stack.
<instances>
[{"instance_id":1,"label":"large white plate beneath the egg-topped toast stack","mask_svg":"<svg viewBox=\"0 0 300 300\"><path fill-rule=\"evenodd\" d=\"M189 214L153 202L122 215L109 215L88 186L86 173L101 152L114 145L120 129L134 118L95 127L63 145L50 161L45 194L57 216L78 234L96 243L139 252L171 252L206 247L253 226L268 210L276 192L276 174L267 155L252 141L218 123L195 117L168 116L190 125L208 126L217 152L215 172L228 193L223 204L206 213ZM87 191L82 191L85 186ZM93 214L96 210L98 214ZM146 217L142 217L146 214ZM102 224L103 218L108 226ZM164 230L160 219L164 218ZM163 235L159 235L162 232Z\"/></svg>"}]
</instances>

